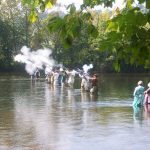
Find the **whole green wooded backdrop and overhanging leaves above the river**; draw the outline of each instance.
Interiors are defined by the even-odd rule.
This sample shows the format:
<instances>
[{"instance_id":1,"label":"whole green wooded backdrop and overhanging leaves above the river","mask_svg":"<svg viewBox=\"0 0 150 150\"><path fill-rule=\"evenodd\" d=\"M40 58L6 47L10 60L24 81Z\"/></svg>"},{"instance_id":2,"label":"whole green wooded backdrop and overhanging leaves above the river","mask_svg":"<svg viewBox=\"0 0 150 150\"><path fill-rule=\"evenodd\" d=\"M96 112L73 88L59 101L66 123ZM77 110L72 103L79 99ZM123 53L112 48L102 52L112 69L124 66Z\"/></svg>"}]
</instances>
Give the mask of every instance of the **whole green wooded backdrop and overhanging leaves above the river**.
<instances>
[{"instance_id":1,"label":"whole green wooded backdrop and overhanging leaves above the river","mask_svg":"<svg viewBox=\"0 0 150 150\"><path fill-rule=\"evenodd\" d=\"M150 69L150 1L127 0L124 9L113 0L84 0L68 14L48 12L53 0L3 0L0 3L0 70L21 71L14 56L26 45L50 48L53 58L66 67L93 64L99 72L147 72Z\"/></svg>"}]
</instances>

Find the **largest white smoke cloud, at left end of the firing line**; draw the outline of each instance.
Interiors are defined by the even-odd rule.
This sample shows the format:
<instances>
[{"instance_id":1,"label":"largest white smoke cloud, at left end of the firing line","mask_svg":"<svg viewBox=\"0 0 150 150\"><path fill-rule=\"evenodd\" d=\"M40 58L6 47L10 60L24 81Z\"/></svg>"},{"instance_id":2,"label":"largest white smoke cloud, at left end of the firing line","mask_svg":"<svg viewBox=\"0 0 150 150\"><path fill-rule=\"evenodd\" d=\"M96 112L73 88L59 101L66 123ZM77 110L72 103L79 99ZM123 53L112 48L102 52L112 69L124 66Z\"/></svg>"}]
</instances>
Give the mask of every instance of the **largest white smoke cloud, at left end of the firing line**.
<instances>
[{"instance_id":1,"label":"largest white smoke cloud, at left end of the firing line","mask_svg":"<svg viewBox=\"0 0 150 150\"><path fill-rule=\"evenodd\" d=\"M48 48L31 51L30 48L23 46L21 54L14 57L14 60L25 64L25 70L32 75L36 68L44 69L47 66L54 66L56 61L50 56L52 51Z\"/></svg>"}]
</instances>

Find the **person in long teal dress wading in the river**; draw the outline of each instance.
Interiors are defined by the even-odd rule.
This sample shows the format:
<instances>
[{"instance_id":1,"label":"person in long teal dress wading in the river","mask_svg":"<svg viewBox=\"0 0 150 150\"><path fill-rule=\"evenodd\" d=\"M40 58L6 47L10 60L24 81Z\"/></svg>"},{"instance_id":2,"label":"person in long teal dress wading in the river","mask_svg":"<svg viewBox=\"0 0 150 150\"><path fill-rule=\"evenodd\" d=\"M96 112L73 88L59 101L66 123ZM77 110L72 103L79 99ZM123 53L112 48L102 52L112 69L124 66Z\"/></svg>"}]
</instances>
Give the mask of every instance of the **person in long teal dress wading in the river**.
<instances>
[{"instance_id":1,"label":"person in long teal dress wading in the river","mask_svg":"<svg viewBox=\"0 0 150 150\"><path fill-rule=\"evenodd\" d=\"M143 81L138 81L137 87L134 89L134 101L133 101L133 107L140 107L143 105L144 100L144 87L143 87Z\"/></svg>"}]
</instances>

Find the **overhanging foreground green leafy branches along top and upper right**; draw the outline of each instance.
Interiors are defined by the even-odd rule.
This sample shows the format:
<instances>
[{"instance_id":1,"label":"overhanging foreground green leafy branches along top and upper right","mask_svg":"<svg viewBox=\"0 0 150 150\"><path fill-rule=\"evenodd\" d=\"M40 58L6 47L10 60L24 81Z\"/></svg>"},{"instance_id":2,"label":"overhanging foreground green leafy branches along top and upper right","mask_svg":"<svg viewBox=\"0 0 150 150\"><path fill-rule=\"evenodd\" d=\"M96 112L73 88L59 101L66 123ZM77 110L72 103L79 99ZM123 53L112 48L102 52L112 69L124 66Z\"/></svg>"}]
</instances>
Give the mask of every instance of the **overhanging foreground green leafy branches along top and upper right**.
<instances>
[{"instance_id":1,"label":"overhanging foreground green leafy branches along top and upper right","mask_svg":"<svg viewBox=\"0 0 150 150\"><path fill-rule=\"evenodd\" d=\"M37 10L44 11L48 6L52 7L56 1L52 0L22 0L31 8L30 20L36 21ZM84 0L81 11L76 11L73 5L64 18L59 16L50 17L48 29L50 32L57 32L61 37L64 47L71 46L76 38L81 36L81 31L86 26L91 37L98 36L98 28L93 24L92 16L87 12L87 7L104 4L111 7L115 0ZM112 54L115 60L116 70L120 69L122 60L127 64L142 65L150 68L150 1L138 0L140 4L145 3L144 10L139 6L133 7L135 0L126 0L126 7L123 10L116 10L116 16L108 21L106 35L101 38L99 50ZM86 10L86 11L84 11ZM144 42L143 42L144 41Z\"/></svg>"}]
</instances>

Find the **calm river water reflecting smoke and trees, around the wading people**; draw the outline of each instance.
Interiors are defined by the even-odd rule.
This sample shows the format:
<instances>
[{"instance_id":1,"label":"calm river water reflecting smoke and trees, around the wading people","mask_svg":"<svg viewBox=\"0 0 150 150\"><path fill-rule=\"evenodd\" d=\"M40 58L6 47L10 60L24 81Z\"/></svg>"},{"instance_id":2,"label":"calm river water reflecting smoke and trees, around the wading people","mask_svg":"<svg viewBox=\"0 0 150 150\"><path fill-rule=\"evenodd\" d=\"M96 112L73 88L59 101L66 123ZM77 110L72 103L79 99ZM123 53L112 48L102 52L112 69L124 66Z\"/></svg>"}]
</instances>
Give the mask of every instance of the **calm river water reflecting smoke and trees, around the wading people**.
<instances>
[{"instance_id":1,"label":"calm river water reflecting smoke and trees, around the wading people","mask_svg":"<svg viewBox=\"0 0 150 150\"><path fill-rule=\"evenodd\" d=\"M44 78L0 76L0 150L147 150L150 108L132 108L149 74L100 74L98 95Z\"/></svg>"}]
</instances>

